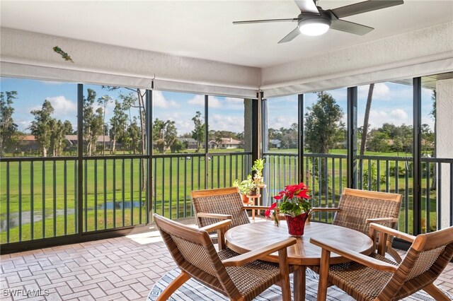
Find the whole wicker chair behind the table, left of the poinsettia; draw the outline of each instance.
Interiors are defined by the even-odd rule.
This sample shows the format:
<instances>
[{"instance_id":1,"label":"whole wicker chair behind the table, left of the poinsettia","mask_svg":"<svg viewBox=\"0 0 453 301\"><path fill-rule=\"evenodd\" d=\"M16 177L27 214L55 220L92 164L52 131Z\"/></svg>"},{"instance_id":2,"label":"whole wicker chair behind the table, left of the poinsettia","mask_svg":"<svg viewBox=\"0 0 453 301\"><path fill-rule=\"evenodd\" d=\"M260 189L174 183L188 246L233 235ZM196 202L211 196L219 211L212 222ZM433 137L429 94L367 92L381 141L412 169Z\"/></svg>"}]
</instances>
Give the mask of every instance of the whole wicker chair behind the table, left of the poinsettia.
<instances>
[{"instance_id":1,"label":"whole wicker chair behind the table, left of the poinsettia","mask_svg":"<svg viewBox=\"0 0 453 301\"><path fill-rule=\"evenodd\" d=\"M192 204L197 225L200 228L226 219L230 219L232 222L229 228L247 224L250 223L250 220L246 210L268 209L268 206L245 206L237 187L194 190L192 191ZM219 249L225 247L224 232L226 230L217 230L217 237L214 237L214 243L219 243Z\"/></svg>"}]
</instances>

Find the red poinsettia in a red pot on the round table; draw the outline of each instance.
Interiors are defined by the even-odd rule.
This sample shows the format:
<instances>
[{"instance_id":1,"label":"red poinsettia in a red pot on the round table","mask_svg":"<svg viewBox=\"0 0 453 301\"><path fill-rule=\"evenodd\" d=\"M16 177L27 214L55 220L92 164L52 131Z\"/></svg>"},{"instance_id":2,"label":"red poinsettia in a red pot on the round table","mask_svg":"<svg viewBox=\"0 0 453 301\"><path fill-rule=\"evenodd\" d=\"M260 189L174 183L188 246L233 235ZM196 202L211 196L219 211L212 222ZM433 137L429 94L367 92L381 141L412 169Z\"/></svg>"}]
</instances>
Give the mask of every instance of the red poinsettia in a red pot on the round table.
<instances>
[{"instance_id":1,"label":"red poinsettia in a red pot on the round table","mask_svg":"<svg viewBox=\"0 0 453 301\"><path fill-rule=\"evenodd\" d=\"M265 211L265 216L269 217L272 214L278 225L277 215L283 214L287 221L289 235L296 237L304 235L305 221L311 211L308 189L309 187L302 182L286 186L285 190L274 196L277 201Z\"/></svg>"}]
</instances>

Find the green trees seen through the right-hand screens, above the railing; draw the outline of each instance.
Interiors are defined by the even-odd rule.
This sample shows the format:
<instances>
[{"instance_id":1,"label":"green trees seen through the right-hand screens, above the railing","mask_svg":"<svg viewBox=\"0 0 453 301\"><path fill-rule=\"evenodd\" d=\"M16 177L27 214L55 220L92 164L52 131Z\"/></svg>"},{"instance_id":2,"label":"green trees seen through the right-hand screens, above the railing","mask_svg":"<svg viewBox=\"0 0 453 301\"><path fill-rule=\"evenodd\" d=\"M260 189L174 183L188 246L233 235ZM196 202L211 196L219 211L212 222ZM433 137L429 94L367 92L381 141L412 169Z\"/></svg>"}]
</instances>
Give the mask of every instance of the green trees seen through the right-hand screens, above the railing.
<instances>
[{"instance_id":1,"label":"green trees seen through the right-hand screens, above the railing","mask_svg":"<svg viewBox=\"0 0 453 301\"><path fill-rule=\"evenodd\" d=\"M316 93L318 99L310 107L306 107L304 121L304 147L311 153L328 153L334 148L344 148L346 142L345 124L342 122L343 110L336 100L326 92ZM370 108L367 108L369 111ZM369 114L369 113L368 113ZM435 107L431 114L434 116ZM366 114L365 114L366 115ZM413 147L413 126L384 123L370 129L371 124L357 129L357 140L365 151L411 153ZM268 148L278 141L280 148L298 148L298 125L289 128L268 129ZM368 130L370 129L370 130ZM422 124L422 151L432 153L435 149L435 133L428 124ZM363 153L362 153L363 155Z\"/></svg>"}]
</instances>

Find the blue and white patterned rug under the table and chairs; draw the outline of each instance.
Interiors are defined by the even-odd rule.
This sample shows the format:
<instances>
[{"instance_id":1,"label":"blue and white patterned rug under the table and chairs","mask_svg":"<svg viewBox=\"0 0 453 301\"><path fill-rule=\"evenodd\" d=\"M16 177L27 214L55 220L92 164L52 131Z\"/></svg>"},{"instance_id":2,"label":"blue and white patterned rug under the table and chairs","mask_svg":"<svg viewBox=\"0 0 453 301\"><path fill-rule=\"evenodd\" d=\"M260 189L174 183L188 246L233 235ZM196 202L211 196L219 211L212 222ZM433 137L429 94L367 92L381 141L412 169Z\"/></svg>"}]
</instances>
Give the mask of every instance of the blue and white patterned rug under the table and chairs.
<instances>
[{"instance_id":1,"label":"blue and white patterned rug under the table and chairs","mask_svg":"<svg viewBox=\"0 0 453 301\"><path fill-rule=\"evenodd\" d=\"M148 299L147 301L154 301L157 300L157 297L159 297L159 294L164 290L167 286L168 283L173 281L176 276L179 275L180 270L178 268L175 268L168 273L166 273L159 281L154 283L153 288L151 289L151 292L149 292ZM290 275L291 278L291 290L292 290L292 275ZM317 273L314 273L314 271L311 271L309 268L306 269L306 297L305 300L314 300L316 301L316 293L318 291L318 280L319 280L319 275ZM444 292L445 293L445 292ZM345 294L343 290L340 290L336 286L331 286L327 290L327 300L332 300L332 301L345 301L345 300L355 300L349 295ZM445 295L448 295L445 293ZM263 293L261 293L258 297L256 297L254 300L281 300L282 293L280 290L280 287L277 285L273 285L267 290L265 290ZM294 297L294 296L292 296ZM450 299L453 300L452 296L449 296ZM205 285L202 285L201 283L190 279L186 283L184 283L178 290L176 290L173 295L171 295L170 299L171 301L187 301L187 300L196 300L196 301L218 301L218 300L229 300L226 298L224 295L217 293L215 290L211 290L210 288L205 287ZM423 290L415 293L411 297L406 297L403 300L434 300L430 295L425 293Z\"/></svg>"}]
</instances>

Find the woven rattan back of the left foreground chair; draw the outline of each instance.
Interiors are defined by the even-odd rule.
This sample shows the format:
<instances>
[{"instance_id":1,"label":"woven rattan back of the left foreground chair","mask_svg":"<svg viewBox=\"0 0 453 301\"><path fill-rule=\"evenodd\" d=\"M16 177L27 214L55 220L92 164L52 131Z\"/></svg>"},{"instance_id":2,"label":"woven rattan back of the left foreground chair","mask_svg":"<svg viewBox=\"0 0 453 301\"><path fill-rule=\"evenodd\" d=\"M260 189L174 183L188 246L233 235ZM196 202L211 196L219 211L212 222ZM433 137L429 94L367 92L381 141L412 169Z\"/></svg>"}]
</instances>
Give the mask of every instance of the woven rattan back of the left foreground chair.
<instances>
[{"instance_id":1,"label":"woven rattan back of the left foreground chair","mask_svg":"<svg viewBox=\"0 0 453 301\"><path fill-rule=\"evenodd\" d=\"M239 294L206 231L158 215L154 221L181 271L230 298Z\"/></svg>"}]
</instances>

